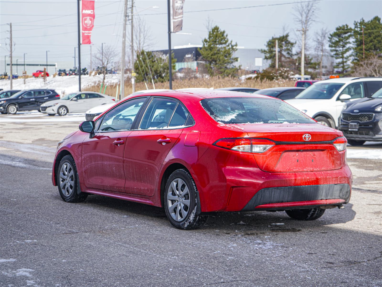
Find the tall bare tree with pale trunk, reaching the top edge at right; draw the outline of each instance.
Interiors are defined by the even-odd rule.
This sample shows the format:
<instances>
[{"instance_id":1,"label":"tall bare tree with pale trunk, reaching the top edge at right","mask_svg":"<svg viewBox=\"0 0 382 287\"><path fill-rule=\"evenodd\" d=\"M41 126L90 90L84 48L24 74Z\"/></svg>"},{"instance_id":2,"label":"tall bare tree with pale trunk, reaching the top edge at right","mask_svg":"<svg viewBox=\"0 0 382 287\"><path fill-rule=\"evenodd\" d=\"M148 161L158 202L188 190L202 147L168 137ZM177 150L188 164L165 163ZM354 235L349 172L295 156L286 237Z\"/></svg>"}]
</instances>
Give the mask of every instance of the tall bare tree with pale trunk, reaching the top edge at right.
<instances>
[{"instance_id":1,"label":"tall bare tree with pale trunk, reaching the top edge at right","mask_svg":"<svg viewBox=\"0 0 382 287\"><path fill-rule=\"evenodd\" d=\"M304 73L304 55L305 55L305 42L308 38L308 30L311 27L312 23L317 20L317 1L310 2L299 2L293 9L296 11L293 16L295 16L296 24L301 35L301 74Z\"/></svg>"}]
</instances>

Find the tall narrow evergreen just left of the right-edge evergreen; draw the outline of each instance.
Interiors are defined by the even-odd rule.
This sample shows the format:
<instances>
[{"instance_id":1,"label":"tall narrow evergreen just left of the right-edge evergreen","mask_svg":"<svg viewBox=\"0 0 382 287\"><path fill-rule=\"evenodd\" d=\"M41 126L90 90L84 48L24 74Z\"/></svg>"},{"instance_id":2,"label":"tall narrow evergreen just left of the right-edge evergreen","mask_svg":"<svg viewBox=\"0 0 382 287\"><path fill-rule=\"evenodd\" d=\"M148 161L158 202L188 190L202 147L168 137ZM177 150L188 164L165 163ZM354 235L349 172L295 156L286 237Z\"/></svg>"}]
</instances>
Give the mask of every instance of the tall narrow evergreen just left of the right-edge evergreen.
<instances>
[{"instance_id":1,"label":"tall narrow evergreen just left of the right-edge evergreen","mask_svg":"<svg viewBox=\"0 0 382 287\"><path fill-rule=\"evenodd\" d=\"M350 72L351 59L351 38L353 29L348 24L338 26L335 31L329 35L329 47L336 59L334 68L340 69L341 75L346 75Z\"/></svg>"}]
</instances>

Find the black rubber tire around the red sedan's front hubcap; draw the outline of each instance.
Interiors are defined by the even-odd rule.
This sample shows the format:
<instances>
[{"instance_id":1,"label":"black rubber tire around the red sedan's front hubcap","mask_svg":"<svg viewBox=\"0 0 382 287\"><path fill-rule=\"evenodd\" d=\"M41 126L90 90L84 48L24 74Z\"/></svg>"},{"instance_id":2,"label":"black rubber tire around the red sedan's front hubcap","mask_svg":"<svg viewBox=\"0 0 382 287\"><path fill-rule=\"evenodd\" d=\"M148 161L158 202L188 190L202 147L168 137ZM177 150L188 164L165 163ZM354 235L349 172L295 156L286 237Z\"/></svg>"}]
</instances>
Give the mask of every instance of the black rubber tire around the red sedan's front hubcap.
<instances>
[{"instance_id":1,"label":"black rubber tire around the red sedan's front hubcap","mask_svg":"<svg viewBox=\"0 0 382 287\"><path fill-rule=\"evenodd\" d=\"M68 192L68 189L66 189L66 185L63 185L64 190L61 188L63 179L60 178L60 173L61 173L61 168L65 163L69 163L70 168L68 168L67 172L70 174L71 172L73 173L73 176L70 176L72 180L72 184L70 184L72 190L71 192ZM67 166L69 166L67 165ZM63 174L65 176L65 174ZM61 198L63 201L66 202L83 202L86 197L88 196L87 193L81 192L78 194L77 192L77 184L79 183L78 180L78 174L77 174L77 168L76 168L76 163L74 162L74 159L71 155L65 155L65 157L62 158L60 161L60 164L58 165L58 170L57 170L57 186L58 186L58 192L60 193ZM69 194L68 194L69 193Z\"/></svg>"}]
</instances>

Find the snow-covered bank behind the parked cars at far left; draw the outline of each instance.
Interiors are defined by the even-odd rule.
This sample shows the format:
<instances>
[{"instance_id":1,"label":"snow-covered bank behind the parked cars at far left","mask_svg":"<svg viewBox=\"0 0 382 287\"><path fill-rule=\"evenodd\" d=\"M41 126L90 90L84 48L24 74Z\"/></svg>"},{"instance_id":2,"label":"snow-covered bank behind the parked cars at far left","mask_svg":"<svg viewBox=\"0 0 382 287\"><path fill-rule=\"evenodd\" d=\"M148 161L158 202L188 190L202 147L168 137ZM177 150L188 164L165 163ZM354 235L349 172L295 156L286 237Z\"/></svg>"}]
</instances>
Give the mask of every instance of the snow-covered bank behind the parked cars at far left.
<instances>
[{"instance_id":1,"label":"snow-covered bank behind the parked cars at far left","mask_svg":"<svg viewBox=\"0 0 382 287\"><path fill-rule=\"evenodd\" d=\"M101 87L102 75L82 75L81 76L81 86L82 90L86 91L87 86L99 85ZM106 75L105 84L117 84L119 83L120 75ZM9 80L0 80L0 88L8 90L10 88ZM47 77L47 82L44 83L43 78L28 78L24 79L14 79L12 81L13 89L53 89L59 95L67 95L70 93L75 93L78 91L78 76L53 76ZM103 88L102 88L103 89Z\"/></svg>"}]
</instances>

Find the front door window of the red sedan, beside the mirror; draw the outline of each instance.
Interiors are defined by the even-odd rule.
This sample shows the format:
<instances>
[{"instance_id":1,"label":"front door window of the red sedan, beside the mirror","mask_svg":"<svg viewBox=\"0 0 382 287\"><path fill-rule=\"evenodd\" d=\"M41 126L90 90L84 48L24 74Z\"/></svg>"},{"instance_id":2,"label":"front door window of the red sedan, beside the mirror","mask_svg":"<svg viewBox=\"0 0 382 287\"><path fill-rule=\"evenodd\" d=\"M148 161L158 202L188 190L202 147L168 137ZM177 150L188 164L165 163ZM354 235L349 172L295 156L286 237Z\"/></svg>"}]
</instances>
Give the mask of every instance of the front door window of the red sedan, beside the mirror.
<instances>
[{"instance_id":1,"label":"front door window of the red sedan, beside the mirror","mask_svg":"<svg viewBox=\"0 0 382 287\"><path fill-rule=\"evenodd\" d=\"M131 99L105 114L99 131L129 130L146 98Z\"/></svg>"}]
</instances>

